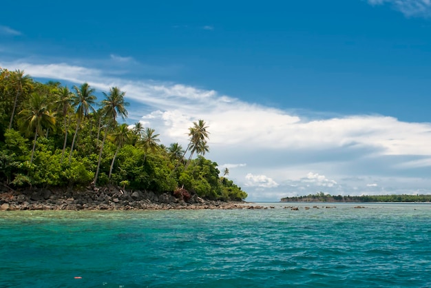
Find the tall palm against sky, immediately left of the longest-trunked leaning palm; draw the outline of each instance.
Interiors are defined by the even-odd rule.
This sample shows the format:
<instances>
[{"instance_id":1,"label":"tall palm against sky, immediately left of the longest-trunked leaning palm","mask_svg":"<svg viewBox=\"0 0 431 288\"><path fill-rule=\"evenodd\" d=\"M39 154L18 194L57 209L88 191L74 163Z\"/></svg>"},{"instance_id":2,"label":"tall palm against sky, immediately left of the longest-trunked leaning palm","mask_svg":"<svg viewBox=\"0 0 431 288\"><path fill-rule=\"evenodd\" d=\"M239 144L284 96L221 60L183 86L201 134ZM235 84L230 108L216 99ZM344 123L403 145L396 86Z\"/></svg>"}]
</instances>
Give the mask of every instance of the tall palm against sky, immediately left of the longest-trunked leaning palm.
<instances>
[{"instance_id":1,"label":"tall palm against sky, immediately left of the longest-trunked leaning palm","mask_svg":"<svg viewBox=\"0 0 431 288\"><path fill-rule=\"evenodd\" d=\"M93 105L96 104L96 96L94 96L94 89L90 88L90 85L88 83L83 83L81 87L74 86L74 90L76 91L76 94L73 96L74 106L76 106L76 130L74 134L74 138L72 140L72 146L70 147L70 154L69 154L69 162L72 159L72 151L74 149L75 140L76 140L76 134L78 134L79 125L81 124L81 121L83 118L87 117L88 114L90 114L91 111L94 111Z\"/></svg>"}]
</instances>

